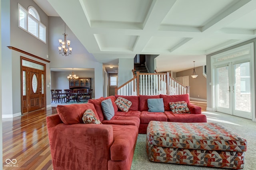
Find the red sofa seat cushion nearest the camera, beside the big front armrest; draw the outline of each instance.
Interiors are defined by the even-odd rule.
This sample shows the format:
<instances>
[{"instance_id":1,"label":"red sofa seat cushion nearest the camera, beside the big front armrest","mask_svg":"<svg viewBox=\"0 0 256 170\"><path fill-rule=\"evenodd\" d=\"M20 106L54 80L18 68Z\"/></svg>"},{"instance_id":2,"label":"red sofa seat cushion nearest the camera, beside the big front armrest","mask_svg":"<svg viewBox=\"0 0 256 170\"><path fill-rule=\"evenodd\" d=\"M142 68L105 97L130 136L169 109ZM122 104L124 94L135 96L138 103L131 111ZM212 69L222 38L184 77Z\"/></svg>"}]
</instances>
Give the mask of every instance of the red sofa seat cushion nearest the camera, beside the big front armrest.
<instances>
[{"instance_id":1,"label":"red sofa seat cushion nearest the camera, beside the big front armrest","mask_svg":"<svg viewBox=\"0 0 256 170\"><path fill-rule=\"evenodd\" d=\"M110 147L111 160L126 160L134 149L138 127L133 125L112 125L114 142Z\"/></svg>"}]
</instances>

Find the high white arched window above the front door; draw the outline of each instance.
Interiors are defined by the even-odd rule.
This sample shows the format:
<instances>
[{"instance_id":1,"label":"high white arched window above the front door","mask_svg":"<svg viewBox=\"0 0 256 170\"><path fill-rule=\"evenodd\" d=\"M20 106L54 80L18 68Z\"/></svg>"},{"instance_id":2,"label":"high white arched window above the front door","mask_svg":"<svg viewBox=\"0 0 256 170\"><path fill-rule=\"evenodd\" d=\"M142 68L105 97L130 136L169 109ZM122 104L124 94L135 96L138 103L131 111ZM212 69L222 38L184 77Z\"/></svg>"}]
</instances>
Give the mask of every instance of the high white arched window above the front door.
<instances>
[{"instance_id":1,"label":"high white arched window above the front door","mask_svg":"<svg viewBox=\"0 0 256 170\"><path fill-rule=\"evenodd\" d=\"M32 6L25 10L20 4L19 27L46 43L46 26L40 22L40 16Z\"/></svg>"}]
</instances>

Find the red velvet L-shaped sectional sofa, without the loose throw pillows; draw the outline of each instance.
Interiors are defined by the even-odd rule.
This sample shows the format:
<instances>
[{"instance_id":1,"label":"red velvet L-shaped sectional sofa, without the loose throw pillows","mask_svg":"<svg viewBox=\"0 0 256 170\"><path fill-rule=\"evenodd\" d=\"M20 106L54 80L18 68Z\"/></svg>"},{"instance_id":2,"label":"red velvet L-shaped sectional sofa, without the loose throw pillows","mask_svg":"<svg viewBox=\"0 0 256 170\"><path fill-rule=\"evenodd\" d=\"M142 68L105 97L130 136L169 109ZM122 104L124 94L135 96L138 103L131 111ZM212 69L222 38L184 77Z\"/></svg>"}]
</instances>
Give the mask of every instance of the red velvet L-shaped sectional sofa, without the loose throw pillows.
<instances>
[{"instance_id":1,"label":"red velvet L-shaped sectional sofa, without the loose throw pillows","mask_svg":"<svg viewBox=\"0 0 256 170\"><path fill-rule=\"evenodd\" d=\"M128 112L118 110L118 97L132 102ZM111 99L114 116L106 120L101 102ZM149 112L148 99L163 98L164 112ZM169 102L186 101L191 113L172 113ZM92 109L102 124L84 124ZM109 96L88 104L57 106L58 114L46 117L54 170L130 170L138 133L146 134L150 121L206 122L201 107L190 104L188 94L167 96Z\"/></svg>"}]
</instances>

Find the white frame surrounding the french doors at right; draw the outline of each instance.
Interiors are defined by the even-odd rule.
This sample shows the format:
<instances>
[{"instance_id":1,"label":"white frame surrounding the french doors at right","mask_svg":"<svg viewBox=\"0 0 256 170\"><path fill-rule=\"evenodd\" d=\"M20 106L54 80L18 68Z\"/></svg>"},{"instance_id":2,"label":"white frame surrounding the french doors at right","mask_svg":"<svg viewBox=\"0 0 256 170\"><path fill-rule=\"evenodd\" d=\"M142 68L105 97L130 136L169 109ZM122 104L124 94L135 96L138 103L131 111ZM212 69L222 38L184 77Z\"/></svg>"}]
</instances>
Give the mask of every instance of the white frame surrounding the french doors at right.
<instances>
[{"instance_id":1,"label":"white frame surrounding the french doors at right","mask_svg":"<svg viewBox=\"0 0 256 170\"><path fill-rule=\"evenodd\" d=\"M246 61L246 59L242 58L242 56L241 56L241 58L238 58L236 60L230 59L230 60L220 61L218 63L215 62L216 59L221 58L221 57L225 57L225 56L228 56L228 55L236 54L236 53L238 53L242 50L245 50L245 49L250 50L250 59L249 59L249 61L250 61L251 112L252 112L252 121L256 121L256 119L255 119L254 43L248 43L246 45L242 45L240 47L236 47L234 49L230 49L228 51L224 51L222 53L211 56L212 111L216 111L216 106L217 106L217 104L216 104L216 101L217 101L217 99L216 99L216 96L217 96L217 94L216 94L217 93L216 92L216 69L215 69L216 65L221 65L221 64L224 64L224 63L227 63L227 62L236 63L236 62L239 62L239 61ZM233 68L233 66L231 66L231 70L232 70L232 68ZM232 79L234 79L234 78L232 78ZM232 80L232 84L233 84L233 80ZM233 113L232 113L232 115L233 115Z\"/></svg>"}]
</instances>

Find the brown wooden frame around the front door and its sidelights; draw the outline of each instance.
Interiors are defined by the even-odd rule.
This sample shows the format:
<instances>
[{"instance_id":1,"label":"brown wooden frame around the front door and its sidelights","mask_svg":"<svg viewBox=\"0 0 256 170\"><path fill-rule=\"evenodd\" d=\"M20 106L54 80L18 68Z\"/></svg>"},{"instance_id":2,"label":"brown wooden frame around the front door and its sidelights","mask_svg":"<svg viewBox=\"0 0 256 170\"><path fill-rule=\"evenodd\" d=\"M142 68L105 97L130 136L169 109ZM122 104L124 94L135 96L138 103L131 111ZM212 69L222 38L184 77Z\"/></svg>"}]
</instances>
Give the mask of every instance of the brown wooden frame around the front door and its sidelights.
<instances>
[{"instance_id":1,"label":"brown wooden frame around the front door and its sidelights","mask_svg":"<svg viewBox=\"0 0 256 170\"><path fill-rule=\"evenodd\" d=\"M41 71L44 71L44 100L43 100L44 107L41 107L40 109L46 107L46 83L45 83L46 82L46 64L20 56L20 107L21 107L20 110L21 110L21 114L23 115L24 113L28 113L28 107L27 107L26 112L23 112L23 107L22 107L22 104L23 104L23 101L22 101L22 97L23 97L23 68L28 68L28 67L22 66L22 60L26 60L26 61L30 61L32 63L40 64L44 67L44 70L41 70ZM26 76L26 79L27 79L27 76ZM27 81L26 81L26 83L27 83ZM26 94L28 94L28 93L26 93ZM27 104L28 104L28 97L26 98L26 105Z\"/></svg>"}]
</instances>

